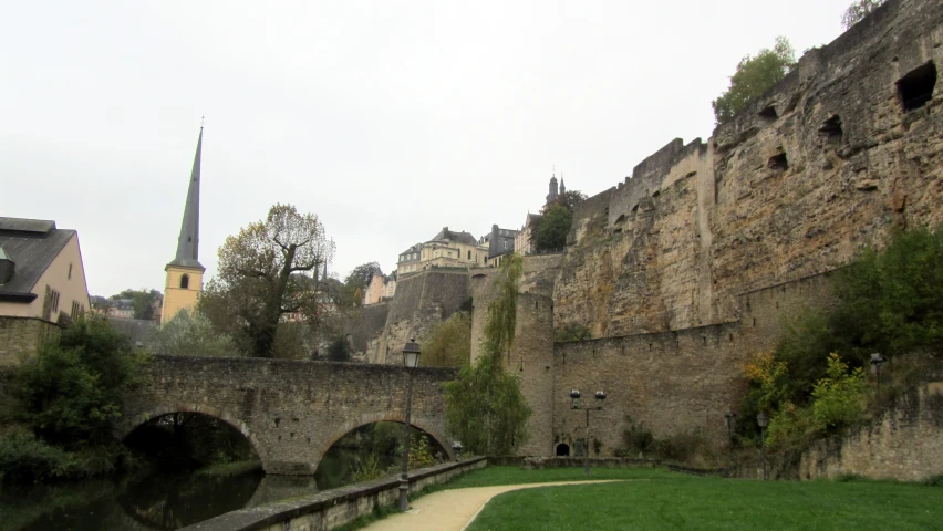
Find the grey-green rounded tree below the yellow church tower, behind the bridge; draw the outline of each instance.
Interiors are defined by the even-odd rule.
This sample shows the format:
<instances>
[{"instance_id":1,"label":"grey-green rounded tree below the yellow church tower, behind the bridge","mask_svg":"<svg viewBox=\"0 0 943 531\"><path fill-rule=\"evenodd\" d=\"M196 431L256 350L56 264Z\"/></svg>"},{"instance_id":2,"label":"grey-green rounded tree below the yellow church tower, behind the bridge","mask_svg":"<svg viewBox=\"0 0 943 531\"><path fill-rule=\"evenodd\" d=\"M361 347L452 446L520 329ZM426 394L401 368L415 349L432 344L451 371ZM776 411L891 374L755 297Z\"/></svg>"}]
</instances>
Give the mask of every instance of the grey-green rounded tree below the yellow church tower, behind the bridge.
<instances>
[{"instance_id":1,"label":"grey-green rounded tree below the yellow church tower, behind the bridge","mask_svg":"<svg viewBox=\"0 0 943 531\"><path fill-rule=\"evenodd\" d=\"M214 330L206 315L193 315L180 310L174 319L151 329L147 334L148 350L153 354L170 356L238 356L232 337Z\"/></svg>"}]
</instances>

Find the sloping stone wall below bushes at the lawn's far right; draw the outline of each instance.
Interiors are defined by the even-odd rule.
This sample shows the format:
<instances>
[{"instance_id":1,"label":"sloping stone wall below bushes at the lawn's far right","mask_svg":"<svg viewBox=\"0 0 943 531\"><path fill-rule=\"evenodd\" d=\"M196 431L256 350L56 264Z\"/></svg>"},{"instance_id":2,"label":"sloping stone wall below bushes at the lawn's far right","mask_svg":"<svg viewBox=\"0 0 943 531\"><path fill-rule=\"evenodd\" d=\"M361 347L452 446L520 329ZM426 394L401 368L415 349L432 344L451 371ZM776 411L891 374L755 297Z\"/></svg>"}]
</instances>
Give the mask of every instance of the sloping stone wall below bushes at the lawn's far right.
<instances>
[{"instance_id":1,"label":"sloping stone wall below bushes at the lawn's far right","mask_svg":"<svg viewBox=\"0 0 943 531\"><path fill-rule=\"evenodd\" d=\"M802 454L799 478L843 475L899 481L943 475L943 382L912 389L868 426Z\"/></svg>"}]
</instances>

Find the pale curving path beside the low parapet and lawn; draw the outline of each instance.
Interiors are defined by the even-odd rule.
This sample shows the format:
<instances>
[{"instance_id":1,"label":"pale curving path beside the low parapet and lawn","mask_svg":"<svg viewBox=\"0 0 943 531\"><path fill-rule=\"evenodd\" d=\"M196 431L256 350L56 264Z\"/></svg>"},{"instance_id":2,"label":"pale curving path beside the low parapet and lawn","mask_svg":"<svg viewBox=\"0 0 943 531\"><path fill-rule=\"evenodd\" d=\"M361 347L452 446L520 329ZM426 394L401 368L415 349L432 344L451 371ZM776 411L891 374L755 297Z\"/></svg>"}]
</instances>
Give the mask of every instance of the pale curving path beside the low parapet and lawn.
<instances>
[{"instance_id":1,"label":"pale curving path beside the low parapet and lawn","mask_svg":"<svg viewBox=\"0 0 943 531\"><path fill-rule=\"evenodd\" d=\"M491 498L511 490L558 485L610 483L601 481L558 481L553 483L501 485L469 489L441 490L426 494L410 506L408 512L393 514L367 525L367 531L462 531L478 516Z\"/></svg>"}]
</instances>

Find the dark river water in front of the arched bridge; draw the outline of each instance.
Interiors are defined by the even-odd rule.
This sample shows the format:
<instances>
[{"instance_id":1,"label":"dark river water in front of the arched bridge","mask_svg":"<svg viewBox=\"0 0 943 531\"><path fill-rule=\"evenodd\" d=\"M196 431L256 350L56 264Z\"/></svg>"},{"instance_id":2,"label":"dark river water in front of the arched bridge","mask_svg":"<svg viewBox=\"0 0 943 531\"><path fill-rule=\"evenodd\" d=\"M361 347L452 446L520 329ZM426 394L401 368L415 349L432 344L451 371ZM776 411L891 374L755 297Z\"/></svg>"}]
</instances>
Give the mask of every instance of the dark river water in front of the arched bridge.
<instances>
[{"instance_id":1,"label":"dark river water in front of the arched bridge","mask_svg":"<svg viewBox=\"0 0 943 531\"><path fill-rule=\"evenodd\" d=\"M2 531L165 531L225 512L350 482L357 452L332 448L314 477L156 473L134 480L94 480L0 492Z\"/></svg>"}]
</instances>

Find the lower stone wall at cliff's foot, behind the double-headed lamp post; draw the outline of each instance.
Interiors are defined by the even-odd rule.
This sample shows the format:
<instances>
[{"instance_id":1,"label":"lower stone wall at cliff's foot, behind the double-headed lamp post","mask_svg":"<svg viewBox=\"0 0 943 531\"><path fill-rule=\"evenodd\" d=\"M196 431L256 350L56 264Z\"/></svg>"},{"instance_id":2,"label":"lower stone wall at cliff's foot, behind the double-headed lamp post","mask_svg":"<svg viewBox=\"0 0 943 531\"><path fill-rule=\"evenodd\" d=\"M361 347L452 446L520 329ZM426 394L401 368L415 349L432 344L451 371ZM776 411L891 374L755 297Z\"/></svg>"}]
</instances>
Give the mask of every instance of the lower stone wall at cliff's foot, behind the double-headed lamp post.
<instances>
[{"instance_id":1,"label":"lower stone wall at cliff's foot, behind the double-headed lamp post","mask_svg":"<svg viewBox=\"0 0 943 531\"><path fill-rule=\"evenodd\" d=\"M734 322L557 343L553 403L541 406L553 412L553 446L574 448L583 438L584 413L570 408L573 388L590 399L597 391L608 394L603 409L590 412L590 440L599 440L603 456L624 446L631 421L644 423L656 438L698 430L724 444L724 414L738 410L747 389L744 362L775 346L804 308L829 304L830 282L820 274L742 294Z\"/></svg>"}]
</instances>

